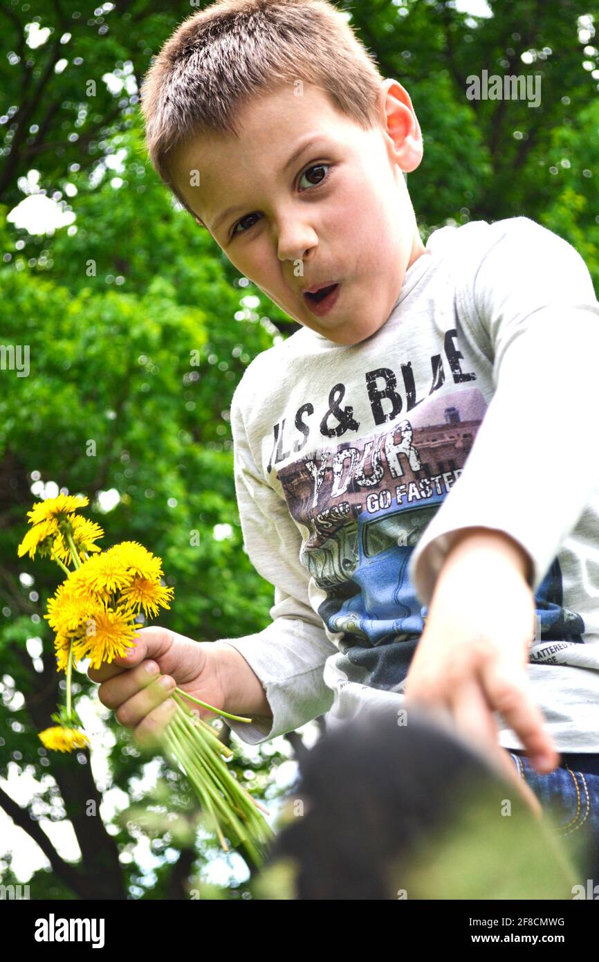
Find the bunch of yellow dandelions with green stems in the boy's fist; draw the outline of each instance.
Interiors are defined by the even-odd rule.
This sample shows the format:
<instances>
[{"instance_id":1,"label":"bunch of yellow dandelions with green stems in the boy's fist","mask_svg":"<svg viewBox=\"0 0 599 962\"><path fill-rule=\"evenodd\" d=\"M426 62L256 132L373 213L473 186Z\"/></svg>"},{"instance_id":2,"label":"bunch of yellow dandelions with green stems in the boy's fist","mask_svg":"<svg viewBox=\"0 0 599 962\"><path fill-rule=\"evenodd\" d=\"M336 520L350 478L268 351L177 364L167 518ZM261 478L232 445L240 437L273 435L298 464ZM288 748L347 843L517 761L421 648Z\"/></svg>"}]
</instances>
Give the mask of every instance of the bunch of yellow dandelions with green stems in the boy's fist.
<instances>
[{"instance_id":1,"label":"bunch of yellow dandelions with green stems in the boy's fist","mask_svg":"<svg viewBox=\"0 0 599 962\"><path fill-rule=\"evenodd\" d=\"M34 558L36 552L49 556L66 574L44 616L55 632L57 671L66 674L66 700L52 715L57 725L40 732L39 738L58 751L89 745L72 703L73 665L88 658L92 668L99 668L126 656L136 646L141 610L146 617L156 616L160 608L170 607L173 595L172 588L162 585L161 559L142 544L121 542L105 551L95 544L104 536L102 528L76 514L88 503L85 495L70 494L40 501L27 513L32 527L18 546L19 557L28 553ZM262 847L272 835L259 814L262 806L228 770L222 756L231 758L231 749L209 722L188 710L181 696L225 718L251 719L213 708L176 688L177 708L163 747L166 758L186 773L222 848L228 851L226 834L233 846L242 845L262 865Z\"/></svg>"}]
</instances>

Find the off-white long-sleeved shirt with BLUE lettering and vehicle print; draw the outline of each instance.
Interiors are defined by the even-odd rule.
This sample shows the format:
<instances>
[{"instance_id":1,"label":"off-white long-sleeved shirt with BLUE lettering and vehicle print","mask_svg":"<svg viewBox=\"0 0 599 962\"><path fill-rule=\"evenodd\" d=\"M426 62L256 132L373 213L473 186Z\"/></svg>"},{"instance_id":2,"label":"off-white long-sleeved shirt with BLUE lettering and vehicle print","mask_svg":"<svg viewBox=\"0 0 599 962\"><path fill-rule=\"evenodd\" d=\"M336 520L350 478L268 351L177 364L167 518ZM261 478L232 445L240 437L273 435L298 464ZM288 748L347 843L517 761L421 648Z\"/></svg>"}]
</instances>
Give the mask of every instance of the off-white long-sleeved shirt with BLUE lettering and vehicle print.
<instances>
[{"instance_id":1,"label":"off-white long-sleeved shirt with BLUE lettering and vehicle print","mask_svg":"<svg viewBox=\"0 0 599 962\"><path fill-rule=\"evenodd\" d=\"M274 605L262 631L223 641L273 718L231 722L241 739L400 708L452 536L485 526L534 563L547 730L558 750L599 752L597 358L583 259L511 217L435 231L365 341L304 327L252 361L231 407L237 502Z\"/></svg>"}]
</instances>

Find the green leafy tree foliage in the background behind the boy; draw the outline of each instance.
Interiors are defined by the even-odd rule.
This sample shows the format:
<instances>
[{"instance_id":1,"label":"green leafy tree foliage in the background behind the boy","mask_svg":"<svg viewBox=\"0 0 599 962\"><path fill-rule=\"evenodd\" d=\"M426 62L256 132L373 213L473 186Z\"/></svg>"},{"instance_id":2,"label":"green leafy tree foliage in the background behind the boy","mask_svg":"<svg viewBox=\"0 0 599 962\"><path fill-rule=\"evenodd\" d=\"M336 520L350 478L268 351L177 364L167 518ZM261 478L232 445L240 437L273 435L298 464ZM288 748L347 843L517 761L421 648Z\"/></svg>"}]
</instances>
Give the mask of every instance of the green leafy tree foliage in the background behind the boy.
<instances>
[{"instance_id":1,"label":"green leafy tree foliage in the background behind the boy","mask_svg":"<svg viewBox=\"0 0 599 962\"><path fill-rule=\"evenodd\" d=\"M430 0L338 6L412 97L425 153L409 189L423 237L452 220L527 215L571 241L599 281L599 72L587 5L491 0L486 17ZM0 806L50 866L31 880L32 898L186 898L219 857L178 772L162 767L156 786L139 788L149 759L112 713L100 713L106 779L87 752L40 747L59 694L42 616L60 576L16 557L32 485L88 494L104 546L137 539L161 555L175 588L164 625L198 640L237 637L267 624L272 604L243 550L229 407L247 364L296 325L172 201L138 114L150 57L194 9L182 0L0 9L0 340L30 348L28 377L0 371L0 777L27 772L37 784L23 806L4 782ZM483 70L537 76L540 105L469 100L468 78ZM74 223L42 236L15 227L7 216L32 190ZM111 490L119 500L104 513L100 495ZM94 698L85 673L76 685L82 703ZM291 749L265 746L250 759L233 743L239 777L257 797L275 796L272 772ZM294 735L288 743L302 749ZM129 803L102 817L111 788ZM40 827L65 819L82 853L75 863ZM154 873L137 863L137 838L150 840ZM10 860L5 870L10 882ZM208 887L202 898L243 889Z\"/></svg>"}]
</instances>

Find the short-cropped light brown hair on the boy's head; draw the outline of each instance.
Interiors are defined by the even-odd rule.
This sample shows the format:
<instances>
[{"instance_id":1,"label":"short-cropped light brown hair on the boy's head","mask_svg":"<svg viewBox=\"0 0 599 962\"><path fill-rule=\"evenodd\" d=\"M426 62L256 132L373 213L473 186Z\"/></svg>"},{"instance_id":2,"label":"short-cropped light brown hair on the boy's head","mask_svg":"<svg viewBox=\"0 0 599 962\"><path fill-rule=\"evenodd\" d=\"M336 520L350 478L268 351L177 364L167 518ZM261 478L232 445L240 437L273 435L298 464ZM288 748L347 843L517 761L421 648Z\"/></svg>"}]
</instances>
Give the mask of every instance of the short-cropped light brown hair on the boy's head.
<instances>
[{"instance_id":1,"label":"short-cropped light brown hair on the boy's head","mask_svg":"<svg viewBox=\"0 0 599 962\"><path fill-rule=\"evenodd\" d=\"M341 113L371 129L382 80L374 56L328 0L217 0L179 25L144 77L150 160L193 214L166 163L179 143L208 132L237 137L239 108L298 81L326 90Z\"/></svg>"}]
</instances>

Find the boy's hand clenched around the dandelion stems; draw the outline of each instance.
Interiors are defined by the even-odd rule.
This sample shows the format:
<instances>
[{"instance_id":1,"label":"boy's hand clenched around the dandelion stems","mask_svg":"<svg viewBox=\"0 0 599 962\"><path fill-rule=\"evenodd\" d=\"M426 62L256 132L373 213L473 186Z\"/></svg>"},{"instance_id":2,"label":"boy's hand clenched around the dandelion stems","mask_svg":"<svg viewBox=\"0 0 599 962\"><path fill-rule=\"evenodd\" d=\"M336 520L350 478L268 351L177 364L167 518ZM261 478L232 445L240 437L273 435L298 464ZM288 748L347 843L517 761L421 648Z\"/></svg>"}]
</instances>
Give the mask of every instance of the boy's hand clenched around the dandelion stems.
<instances>
[{"instance_id":1,"label":"boy's hand clenched around the dandelion stems","mask_svg":"<svg viewBox=\"0 0 599 962\"><path fill-rule=\"evenodd\" d=\"M115 711L117 722L133 729L140 745L152 745L170 722L176 707L170 697L175 687L225 709L226 693L218 658L214 658L217 643L195 642L158 626L140 628L136 641L127 658L90 668L87 675L100 682L100 701ZM186 704L201 718L214 718L213 712L190 701Z\"/></svg>"}]
</instances>

